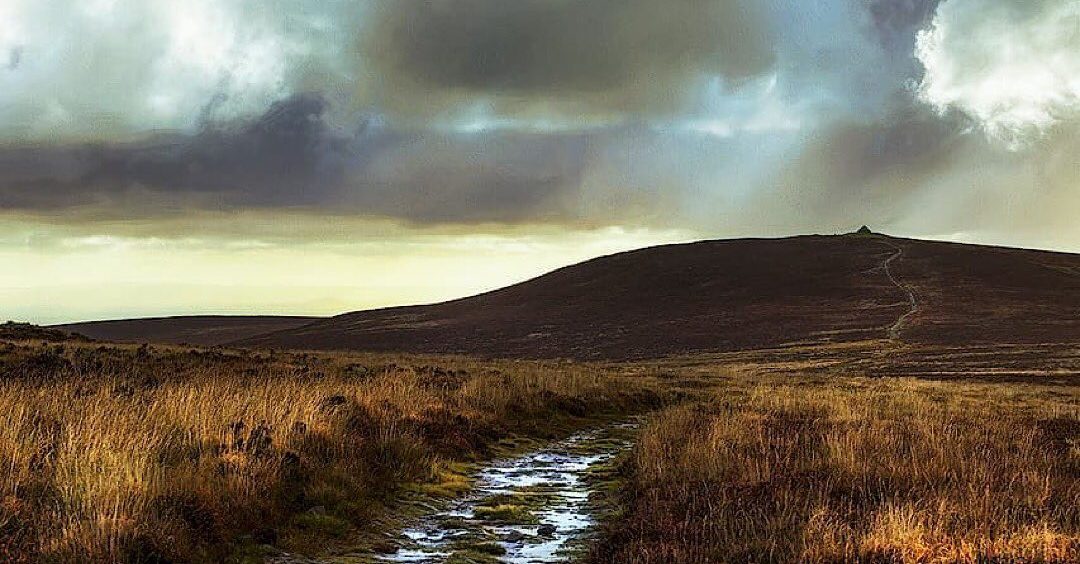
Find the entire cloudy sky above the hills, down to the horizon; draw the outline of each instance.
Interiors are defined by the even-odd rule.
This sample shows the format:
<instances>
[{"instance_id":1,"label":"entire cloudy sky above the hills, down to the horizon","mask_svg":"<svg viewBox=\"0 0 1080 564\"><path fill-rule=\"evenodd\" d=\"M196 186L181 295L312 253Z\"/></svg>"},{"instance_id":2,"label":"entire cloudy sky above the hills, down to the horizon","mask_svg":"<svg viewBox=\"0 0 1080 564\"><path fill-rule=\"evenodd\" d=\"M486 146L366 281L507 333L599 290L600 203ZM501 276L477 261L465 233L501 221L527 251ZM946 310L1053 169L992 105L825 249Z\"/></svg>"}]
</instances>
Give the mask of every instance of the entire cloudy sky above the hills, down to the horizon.
<instances>
[{"instance_id":1,"label":"entire cloudy sky above the hills, down to the horizon","mask_svg":"<svg viewBox=\"0 0 1080 564\"><path fill-rule=\"evenodd\" d=\"M1078 0L0 0L0 318L863 224L1080 252L1077 217Z\"/></svg>"}]
</instances>

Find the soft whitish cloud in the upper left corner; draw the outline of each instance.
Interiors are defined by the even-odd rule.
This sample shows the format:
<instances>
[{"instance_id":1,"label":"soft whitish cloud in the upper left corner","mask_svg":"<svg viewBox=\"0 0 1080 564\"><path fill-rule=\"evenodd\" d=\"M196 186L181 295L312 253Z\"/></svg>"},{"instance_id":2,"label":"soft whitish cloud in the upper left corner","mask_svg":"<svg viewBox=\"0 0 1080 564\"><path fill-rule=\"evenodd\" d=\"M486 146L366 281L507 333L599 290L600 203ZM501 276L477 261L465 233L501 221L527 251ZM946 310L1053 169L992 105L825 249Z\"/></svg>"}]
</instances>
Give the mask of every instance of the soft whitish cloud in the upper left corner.
<instances>
[{"instance_id":1,"label":"soft whitish cloud in the upper left corner","mask_svg":"<svg viewBox=\"0 0 1080 564\"><path fill-rule=\"evenodd\" d=\"M0 2L0 135L186 130L288 94L286 22L249 0Z\"/></svg>"}]
</instances>

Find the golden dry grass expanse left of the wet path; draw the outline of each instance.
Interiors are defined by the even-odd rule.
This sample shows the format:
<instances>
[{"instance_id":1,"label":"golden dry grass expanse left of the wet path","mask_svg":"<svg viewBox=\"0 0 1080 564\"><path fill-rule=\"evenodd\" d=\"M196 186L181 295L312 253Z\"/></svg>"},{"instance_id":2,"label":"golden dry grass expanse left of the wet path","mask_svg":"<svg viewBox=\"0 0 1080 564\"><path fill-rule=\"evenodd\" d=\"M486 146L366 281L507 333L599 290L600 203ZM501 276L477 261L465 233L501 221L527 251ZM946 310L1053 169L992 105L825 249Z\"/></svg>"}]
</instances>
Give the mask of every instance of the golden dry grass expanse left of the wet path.
<instances>
[{"instance_id":1,"label":"golden dry grass expanse left of the wet path","mask_svg":"<svg viewBox=\"0 0 1080 564\"><path fill-rule=\"evenodd\" d=\"M557 363L0 344L0 561L342 537L502 438L657 401Z\"/></svg>"}]
</instances>

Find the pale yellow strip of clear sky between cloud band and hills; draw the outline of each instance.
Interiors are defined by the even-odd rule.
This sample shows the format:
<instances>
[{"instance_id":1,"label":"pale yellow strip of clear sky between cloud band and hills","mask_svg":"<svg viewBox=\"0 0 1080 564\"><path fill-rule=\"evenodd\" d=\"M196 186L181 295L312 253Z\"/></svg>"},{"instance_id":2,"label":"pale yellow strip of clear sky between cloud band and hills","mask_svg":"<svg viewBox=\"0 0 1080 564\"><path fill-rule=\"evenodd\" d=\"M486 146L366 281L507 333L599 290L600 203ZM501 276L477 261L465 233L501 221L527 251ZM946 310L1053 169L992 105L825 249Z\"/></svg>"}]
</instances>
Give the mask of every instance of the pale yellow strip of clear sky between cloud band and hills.
<instances>
[{"instance_id":1,"label":"pale yellow strip of clear sky between cloud band and hills","mask_svg":"<svg viewBox=\"0 0 1080 564\"><path fill-rule=\"evenodd\" d=\"M275 241L269 231L161 238L9 223L0 245L0 318L62 323L193 313L329 315L468 296L591 257L694 239L618 227L456 233L343 223L354 238L340 225L334 237L309 225L313 238L299 242ZM242 227L249 230L254 221Z\"/></svg>"}]
</instances>

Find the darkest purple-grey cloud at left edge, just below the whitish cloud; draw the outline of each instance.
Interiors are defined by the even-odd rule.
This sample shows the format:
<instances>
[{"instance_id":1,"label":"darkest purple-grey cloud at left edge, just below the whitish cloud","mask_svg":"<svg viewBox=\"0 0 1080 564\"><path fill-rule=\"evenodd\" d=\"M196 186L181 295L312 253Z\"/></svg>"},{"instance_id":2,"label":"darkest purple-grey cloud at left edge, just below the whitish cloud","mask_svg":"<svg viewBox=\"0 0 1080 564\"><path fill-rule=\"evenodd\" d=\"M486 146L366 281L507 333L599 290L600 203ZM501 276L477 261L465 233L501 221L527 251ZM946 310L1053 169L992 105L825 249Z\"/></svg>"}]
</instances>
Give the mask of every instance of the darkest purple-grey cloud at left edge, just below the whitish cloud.
<instances>
[{"instance_id":1,"label":"darkest purple-grey cloud at left edge, just below the whitish cloud","mask_svg":"<svg viewBox=\"0 0 1080 564\"><path fill-rule=\"evenodd\" d=\"M336 160L352 140L327 130L324 108L318 96L297 96L249 122L191 136L8 149L0 152L0 205L63 209L138 192L302 204L334 184Z\"/></svg>"}]
</instances>

